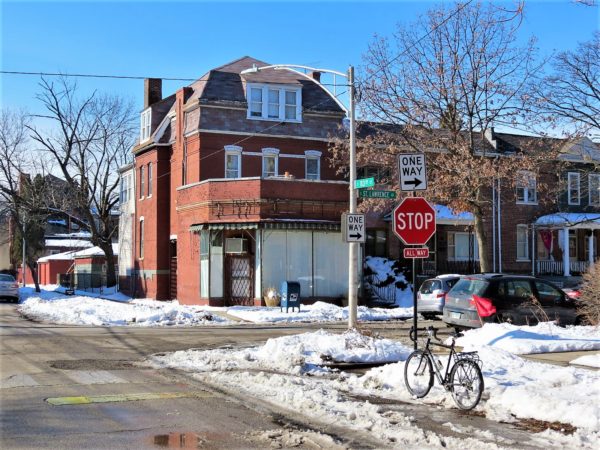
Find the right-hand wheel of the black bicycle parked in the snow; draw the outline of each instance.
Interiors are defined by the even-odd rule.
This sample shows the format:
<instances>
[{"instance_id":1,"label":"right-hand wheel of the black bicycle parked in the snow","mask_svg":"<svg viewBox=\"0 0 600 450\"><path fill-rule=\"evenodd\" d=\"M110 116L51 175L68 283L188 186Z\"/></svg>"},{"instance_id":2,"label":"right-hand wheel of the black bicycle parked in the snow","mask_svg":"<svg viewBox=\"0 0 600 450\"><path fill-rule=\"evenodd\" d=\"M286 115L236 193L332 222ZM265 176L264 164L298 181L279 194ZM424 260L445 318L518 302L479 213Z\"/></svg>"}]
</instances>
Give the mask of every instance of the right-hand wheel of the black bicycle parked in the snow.
<instances>
[{"instance_id":1,"label":"right-hand wheel of the black bicycle parked in the snow","mask_svg":"<svg viewBox=\"0 0 600 450\"><path fill-rule=\"evenodd\" d=\"M469 359L461 359L450 372L452 398L460 409L471 410L477 406L483 394L483 375L479 366Z\"/></svg>"}]
</instances>

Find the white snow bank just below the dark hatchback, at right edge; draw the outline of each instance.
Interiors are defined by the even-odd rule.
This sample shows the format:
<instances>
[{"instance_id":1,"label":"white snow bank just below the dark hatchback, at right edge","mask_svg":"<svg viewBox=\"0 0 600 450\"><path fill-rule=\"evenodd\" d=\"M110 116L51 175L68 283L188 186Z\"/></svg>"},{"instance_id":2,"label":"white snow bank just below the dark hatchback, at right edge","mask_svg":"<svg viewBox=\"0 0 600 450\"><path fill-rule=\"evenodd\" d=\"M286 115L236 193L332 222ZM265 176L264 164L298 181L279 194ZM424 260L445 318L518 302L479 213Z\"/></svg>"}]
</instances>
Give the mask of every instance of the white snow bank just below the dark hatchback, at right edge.
<instances>
[{"instance_id":1,"label":"white snow bank just below the dark hatchback, at right edge","mask_svg":"<svg viewBox=\"0 0 600 450\"><path fill-rule=\"evenodd\" d=\"M487 323L481 328L466 331L456 343L465 349L476 350L478 347L488 345L519 355L598 350L600 349L600 327L562 328L552 322L542 322L536 326Z\"/></svg>"}]
</instances>

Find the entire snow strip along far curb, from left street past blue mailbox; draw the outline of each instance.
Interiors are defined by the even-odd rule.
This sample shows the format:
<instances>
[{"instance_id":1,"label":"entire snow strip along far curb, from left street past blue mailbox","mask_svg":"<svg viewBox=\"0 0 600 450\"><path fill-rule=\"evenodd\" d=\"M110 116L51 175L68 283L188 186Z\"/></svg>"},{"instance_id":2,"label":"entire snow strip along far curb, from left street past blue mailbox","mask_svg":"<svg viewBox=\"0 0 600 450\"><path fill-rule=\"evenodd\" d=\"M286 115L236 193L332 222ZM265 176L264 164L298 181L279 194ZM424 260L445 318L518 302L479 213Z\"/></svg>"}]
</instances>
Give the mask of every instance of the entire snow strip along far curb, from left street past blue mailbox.
<instances>
[{"instance_id":1,"label":"entire snow strip along far curb, from left street past blue mailbox","mask_svg":"<svg viewBox=\"0 0 600 450\"><path fill-rule=\"evenodd\" d=\"M20 310L23 314L48 322L69 325L232 325L238 323L231 317L252 323L325 323L348 320L348 308L324 302L302 305L300 311L289 313L279 307L210 307L180 305L177 301L131 300L116 292L94 294L79 292L63 295L64 289L46 286L36 294L33 288L20 291ZM102 296L103 298L99 298ZM109 301L110 299L112 301ZM358 320L397 320L412 317L412 308L358 309Z\"/></svg>"}]
</instances>

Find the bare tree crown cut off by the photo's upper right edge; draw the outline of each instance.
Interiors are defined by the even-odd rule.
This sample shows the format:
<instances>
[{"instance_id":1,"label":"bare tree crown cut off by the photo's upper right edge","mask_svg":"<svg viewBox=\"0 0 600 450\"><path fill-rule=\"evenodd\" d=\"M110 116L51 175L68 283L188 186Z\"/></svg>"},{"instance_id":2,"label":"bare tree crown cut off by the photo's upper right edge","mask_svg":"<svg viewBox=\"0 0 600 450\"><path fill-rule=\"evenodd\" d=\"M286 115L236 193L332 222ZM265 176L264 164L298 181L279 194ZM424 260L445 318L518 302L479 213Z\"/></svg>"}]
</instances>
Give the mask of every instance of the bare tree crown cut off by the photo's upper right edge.
<instances>
[{"instance_id":1,"label":"bare tree crown cut off by the photo's upper right edge","mask_svg":"<svg viewBox=\"0 0 600 450\"><path fill-rule=\"evenodd\" d=\"M537 85L542 112L600 133L600 31L575 51L559 53L553 68Z\"/></svg>"}]
</instances>

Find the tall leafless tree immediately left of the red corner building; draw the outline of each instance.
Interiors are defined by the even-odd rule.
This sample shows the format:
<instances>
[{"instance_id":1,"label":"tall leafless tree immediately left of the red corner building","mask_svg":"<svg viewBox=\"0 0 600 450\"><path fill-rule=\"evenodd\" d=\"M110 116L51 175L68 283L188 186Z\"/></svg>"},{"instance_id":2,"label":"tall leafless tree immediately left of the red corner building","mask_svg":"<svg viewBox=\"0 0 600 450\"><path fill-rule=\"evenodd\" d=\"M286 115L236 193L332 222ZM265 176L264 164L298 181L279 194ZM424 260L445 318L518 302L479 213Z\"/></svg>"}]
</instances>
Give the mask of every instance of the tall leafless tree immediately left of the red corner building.
<instances>
[{"instance_id":1,"label":"tall leafless tree immediately left of the red corner building","mask_svg":"<svg viewBox=\"0 0 600 450\"><path fill-rule=\"evenodd\" d=\"M29 126L75 194L91 241L106 255L106 283L116 284L112 241L118 227L114 214L119 201L118 168L131 159L134 115L131 102L93 93L79 98L77 86L65 78L57 83L42 79L38 99L46 109L53 131Z\"/></svg>"}]
</instances>

